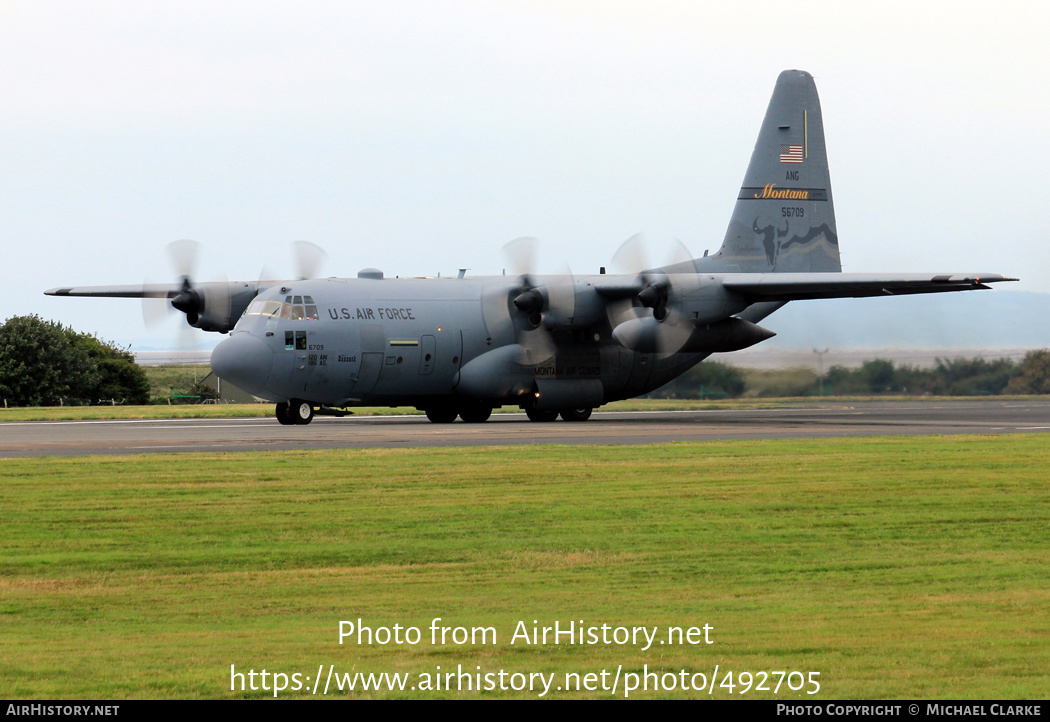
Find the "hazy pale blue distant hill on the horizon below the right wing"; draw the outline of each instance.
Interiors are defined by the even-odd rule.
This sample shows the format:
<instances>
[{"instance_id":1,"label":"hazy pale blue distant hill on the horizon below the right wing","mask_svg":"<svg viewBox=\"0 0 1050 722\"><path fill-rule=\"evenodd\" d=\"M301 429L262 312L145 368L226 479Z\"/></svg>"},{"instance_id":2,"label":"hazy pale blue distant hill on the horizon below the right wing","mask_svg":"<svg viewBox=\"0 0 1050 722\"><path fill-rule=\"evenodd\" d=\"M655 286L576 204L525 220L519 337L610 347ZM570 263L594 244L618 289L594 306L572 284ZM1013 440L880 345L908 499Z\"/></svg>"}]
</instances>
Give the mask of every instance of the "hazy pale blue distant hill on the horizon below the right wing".
<instances>
[{"instance_id":1,"label":"hazy pale blue distant hill on the horizon below the right wing","mask_svg":"<svg viewBox=\"0 0 1050 722\"><path fill-rule=\"evenodd\" d=\"M1050 294L972 291L793 301L763 348L1046 348Z\"/></svg>"}]
</instances>

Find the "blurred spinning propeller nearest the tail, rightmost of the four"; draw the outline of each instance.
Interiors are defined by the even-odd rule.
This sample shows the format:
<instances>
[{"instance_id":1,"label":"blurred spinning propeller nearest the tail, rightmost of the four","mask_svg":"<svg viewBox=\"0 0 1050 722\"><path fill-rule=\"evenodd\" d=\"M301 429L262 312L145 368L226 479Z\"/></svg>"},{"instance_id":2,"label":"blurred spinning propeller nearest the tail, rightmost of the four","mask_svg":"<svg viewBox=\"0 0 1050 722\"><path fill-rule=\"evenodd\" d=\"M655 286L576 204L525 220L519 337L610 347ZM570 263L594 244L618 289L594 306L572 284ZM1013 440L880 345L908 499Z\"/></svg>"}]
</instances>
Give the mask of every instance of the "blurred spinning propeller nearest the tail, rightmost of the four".
<instances>
[{"instance_id":1,"label":"blurred spinning propeller nearest the tail, rightmost of the four","mask_svg":"<svg viewBox=\"0 0 1050 722\"><path fill-rule=\"evenodd\" d=\"M692 258L689 249L676 240L670 262L653 269L640 233L621 245L611 262L625 273L638 274L639 291L633 298L607 305L613 338L632 351L663 357L678 353L689 342L694 325L680 304L699 288Z\"/></svg>"}]
</instances>

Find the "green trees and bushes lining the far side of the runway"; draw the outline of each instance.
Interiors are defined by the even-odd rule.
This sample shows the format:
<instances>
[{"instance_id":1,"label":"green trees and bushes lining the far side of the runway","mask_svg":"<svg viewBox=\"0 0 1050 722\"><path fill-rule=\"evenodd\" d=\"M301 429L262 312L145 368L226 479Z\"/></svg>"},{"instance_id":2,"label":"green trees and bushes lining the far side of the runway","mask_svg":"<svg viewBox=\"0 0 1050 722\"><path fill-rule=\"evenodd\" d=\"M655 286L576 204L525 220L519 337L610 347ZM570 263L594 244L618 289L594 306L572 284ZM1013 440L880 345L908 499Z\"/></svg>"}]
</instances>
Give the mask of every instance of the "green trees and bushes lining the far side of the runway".
<instances>
[{"instance_id":1,"label":"green trees and bushes lining the far side of the runway","mask_svg":"<svg viewBox=\"0 0 1050 722\"><path fill-rule=\"evenodd\" d=\"M931 368L885 359L859 368L760 371L704 362L648 395L655 399L798 396L998 396L1050 394L1050 349L1011 359L938 359ZM203 384L191 394L214 391ZM39 316L0 326L0 400L8 406L148 404L150 384L127 351Z\"/></svg>"}]
</instances>

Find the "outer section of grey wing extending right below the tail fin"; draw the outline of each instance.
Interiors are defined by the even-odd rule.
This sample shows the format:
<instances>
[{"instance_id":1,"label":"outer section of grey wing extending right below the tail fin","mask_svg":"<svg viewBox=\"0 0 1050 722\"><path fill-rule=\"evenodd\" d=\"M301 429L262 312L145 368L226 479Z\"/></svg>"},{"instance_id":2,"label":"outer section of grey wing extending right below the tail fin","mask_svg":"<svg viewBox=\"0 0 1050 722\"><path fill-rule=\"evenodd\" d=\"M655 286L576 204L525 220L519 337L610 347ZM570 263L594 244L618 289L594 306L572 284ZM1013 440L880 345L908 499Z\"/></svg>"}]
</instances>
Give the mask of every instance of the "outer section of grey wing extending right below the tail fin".
<instances>
[{"instance_id":1,"label":"outer section of grey wing extending right below the tail fin","mask_svg":"<svg viewBox=\"0 0 1050 722\"><path fill-rule=\"evenodd\" d=\"M721 280L727 291L754 301L794 301L972 291L1017 279L998 273L734 273Z\"/></svg>"}]
</instances>

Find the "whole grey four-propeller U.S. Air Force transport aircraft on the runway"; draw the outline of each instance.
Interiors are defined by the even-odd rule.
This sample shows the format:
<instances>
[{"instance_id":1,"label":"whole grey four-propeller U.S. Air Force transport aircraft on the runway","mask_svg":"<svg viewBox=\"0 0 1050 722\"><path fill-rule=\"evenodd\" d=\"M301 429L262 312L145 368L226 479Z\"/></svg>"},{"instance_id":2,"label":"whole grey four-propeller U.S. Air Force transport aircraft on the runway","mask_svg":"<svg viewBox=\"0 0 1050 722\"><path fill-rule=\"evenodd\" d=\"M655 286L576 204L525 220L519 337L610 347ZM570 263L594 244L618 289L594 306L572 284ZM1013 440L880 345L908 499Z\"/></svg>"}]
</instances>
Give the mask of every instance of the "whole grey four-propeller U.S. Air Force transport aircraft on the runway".
<instances>
[{"instance_id":1,"label":"whole grey four-propeller U.S. Air Force transport aircraft on the runway","mask_svg":"<svg viewBox=\"0 0 1050 722\"><path fill-rule=\"evenodd\" d=\"M527 255L527 241L507 249ZM617 252L637 257L636 240ZM717 352L775 334L788 301L987 289L991 273L842 273L813 77L777 80L721 248L637 273L357 278L51 289L54 296L171 299L190 325L229 333L222 379L276 402L282 424L358 405L408 405L435 423L584 421ZM309 274L303 274L309 275Z\"/></svg>"}]
</instances>

